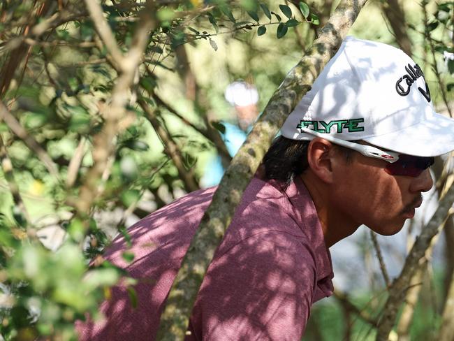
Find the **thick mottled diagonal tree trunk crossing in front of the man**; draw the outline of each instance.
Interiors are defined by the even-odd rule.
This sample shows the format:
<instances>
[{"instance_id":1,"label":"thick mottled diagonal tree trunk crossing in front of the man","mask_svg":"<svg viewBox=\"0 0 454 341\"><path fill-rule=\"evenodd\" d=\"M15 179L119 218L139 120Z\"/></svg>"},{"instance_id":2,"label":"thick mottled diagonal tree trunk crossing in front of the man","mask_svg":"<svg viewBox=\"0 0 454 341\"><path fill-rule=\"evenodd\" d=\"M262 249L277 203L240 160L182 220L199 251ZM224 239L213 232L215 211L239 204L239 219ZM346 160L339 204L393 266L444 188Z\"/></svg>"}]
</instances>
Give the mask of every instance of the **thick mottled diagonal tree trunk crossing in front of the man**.
<instances>
[{"instance_id":1,"label":"thick mottled diagonal tree trunk crossing in front of the man","mask_svg":"<svg viewBox=\"0 0 454 341\"><path fill-rule=\"evenodd\" d=\"M247 140L233 158L182 261L161 316L159 340L184 338L198 288L214 250L240 203L244 189L256 173L263 155L284 120L311 89L325 64L335 55L366 2L367 0L342 0L339 3L307 55L291 69L274 92L263 115L254 124Z\"/></svg>"}]
</instances>

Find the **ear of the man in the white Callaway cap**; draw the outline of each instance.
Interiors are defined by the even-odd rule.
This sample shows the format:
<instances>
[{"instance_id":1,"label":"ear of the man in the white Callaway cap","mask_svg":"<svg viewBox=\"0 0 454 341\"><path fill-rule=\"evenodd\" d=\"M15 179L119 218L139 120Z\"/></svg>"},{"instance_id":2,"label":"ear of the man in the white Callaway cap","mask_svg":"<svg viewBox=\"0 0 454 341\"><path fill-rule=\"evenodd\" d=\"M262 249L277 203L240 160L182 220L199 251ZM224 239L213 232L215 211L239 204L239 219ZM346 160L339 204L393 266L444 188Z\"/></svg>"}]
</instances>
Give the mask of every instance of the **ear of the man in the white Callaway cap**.
<instances>
[{"instance_id":1,"label":"ear of the man in the white Callaway cap","mask_svg":"<svg viewBox=\"0 0 454 341\"><path fill-rule=\"evenodd\" d=\"M307 162L312 173L321 181L332 183L332 161L335 157L333 145L323 138L314 138L307 149Z\"/></svg>"}]
</instances>

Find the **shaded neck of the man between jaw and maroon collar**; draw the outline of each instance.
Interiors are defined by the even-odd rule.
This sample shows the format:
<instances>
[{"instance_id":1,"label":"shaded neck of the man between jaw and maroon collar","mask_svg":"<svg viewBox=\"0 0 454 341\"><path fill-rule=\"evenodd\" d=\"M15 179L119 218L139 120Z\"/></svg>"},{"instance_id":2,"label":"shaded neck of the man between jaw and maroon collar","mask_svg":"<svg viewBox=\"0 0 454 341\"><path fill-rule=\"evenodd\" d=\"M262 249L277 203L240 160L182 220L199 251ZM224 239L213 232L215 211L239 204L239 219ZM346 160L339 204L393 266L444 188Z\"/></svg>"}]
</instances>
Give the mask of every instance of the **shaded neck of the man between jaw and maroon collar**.
<instances>
[{"instance_id":1,"label":"shaded neck of the man between jaw and maroon collar","mask_svg":"<svg viewBox=\"0 0 454 341\"><path fill-rule=\"evenodd\" d=\"M310 169L302 173L301 178L314 201L326 247L356 231L360 225L337 210L330 196L329 184L322 182Z\"/></svg>"}]
</instances>

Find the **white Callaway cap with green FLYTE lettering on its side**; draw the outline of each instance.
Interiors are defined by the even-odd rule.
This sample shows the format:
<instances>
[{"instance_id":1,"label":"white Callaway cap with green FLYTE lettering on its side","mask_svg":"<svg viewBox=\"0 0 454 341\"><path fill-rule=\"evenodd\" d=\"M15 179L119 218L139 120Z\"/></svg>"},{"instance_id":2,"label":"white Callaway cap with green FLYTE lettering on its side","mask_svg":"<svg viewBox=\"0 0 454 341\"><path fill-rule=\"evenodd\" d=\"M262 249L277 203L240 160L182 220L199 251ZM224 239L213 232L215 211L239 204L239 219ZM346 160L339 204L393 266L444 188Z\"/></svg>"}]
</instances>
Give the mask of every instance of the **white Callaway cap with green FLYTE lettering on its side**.
<instances>
[{"instance_id":1,"label":"white Callaway cap with green FLYTE lettering on its side","mask_svg":"<svg viewBox=\"0 0 454 341\"><path fill-rule=\"evenodd\" d=\"M281 128L293 140L314 131L420 157L454 150L454 119L434 112L420 66L393 46L351 36Z\"/></svg>"}]
</instances>

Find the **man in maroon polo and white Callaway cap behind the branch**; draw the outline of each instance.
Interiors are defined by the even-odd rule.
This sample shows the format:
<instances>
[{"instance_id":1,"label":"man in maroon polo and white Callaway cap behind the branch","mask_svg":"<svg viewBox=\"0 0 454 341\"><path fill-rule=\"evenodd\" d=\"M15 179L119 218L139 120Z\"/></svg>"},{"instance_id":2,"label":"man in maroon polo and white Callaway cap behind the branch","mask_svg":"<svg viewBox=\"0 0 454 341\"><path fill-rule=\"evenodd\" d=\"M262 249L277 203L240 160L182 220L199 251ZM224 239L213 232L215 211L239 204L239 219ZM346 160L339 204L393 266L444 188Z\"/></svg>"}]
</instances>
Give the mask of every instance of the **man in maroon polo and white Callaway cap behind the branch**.
<instances>
[{"instance_id":1,"label":"man in maroon polo and white Callaway cap behind the branch","mask_svg":"<svg viewBox=\"0 0 454 341\"><path fill-rule=\"evenodd\" d=\"M418 64L347 38L281 129L265 174L244 192L207 270L187 340L300 340L312 303L332 293L328 248L365 224L400 231L432 187L434 157L454 150L454 120L434 113ZM214 189L129 229L105 253L139 280L117 287L82 340L153 340L180 262Z\"/></svg>"}]
</instances>

